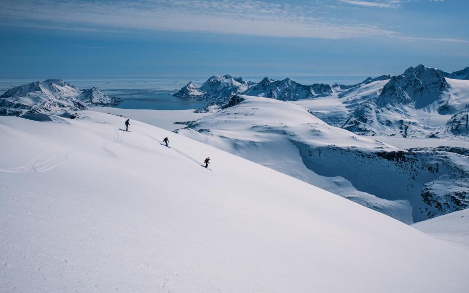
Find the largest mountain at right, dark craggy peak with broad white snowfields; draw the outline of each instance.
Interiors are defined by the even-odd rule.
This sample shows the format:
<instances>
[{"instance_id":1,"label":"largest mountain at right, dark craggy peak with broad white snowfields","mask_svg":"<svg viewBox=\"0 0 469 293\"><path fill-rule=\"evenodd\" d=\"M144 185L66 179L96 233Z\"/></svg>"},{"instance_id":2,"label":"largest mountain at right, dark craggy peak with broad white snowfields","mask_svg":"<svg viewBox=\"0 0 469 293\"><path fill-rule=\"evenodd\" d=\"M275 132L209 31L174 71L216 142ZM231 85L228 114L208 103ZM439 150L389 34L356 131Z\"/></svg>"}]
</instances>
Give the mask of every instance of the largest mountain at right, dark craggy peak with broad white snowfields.
<instances>
[{"instance_id":1,"label":"largest mountain at right, dark craggy peak with broad white snowfields","mask_svg":"<svg viewBox=\"0 0 469 293\"><path fill-rule=\"evenodd\" d=\"M467 139L463 119L469 81L446 78L441 70L423 65L381 79L347 89L333 87L331 95L293 103L361 135Z\"/></svg>"}]
</instances>

